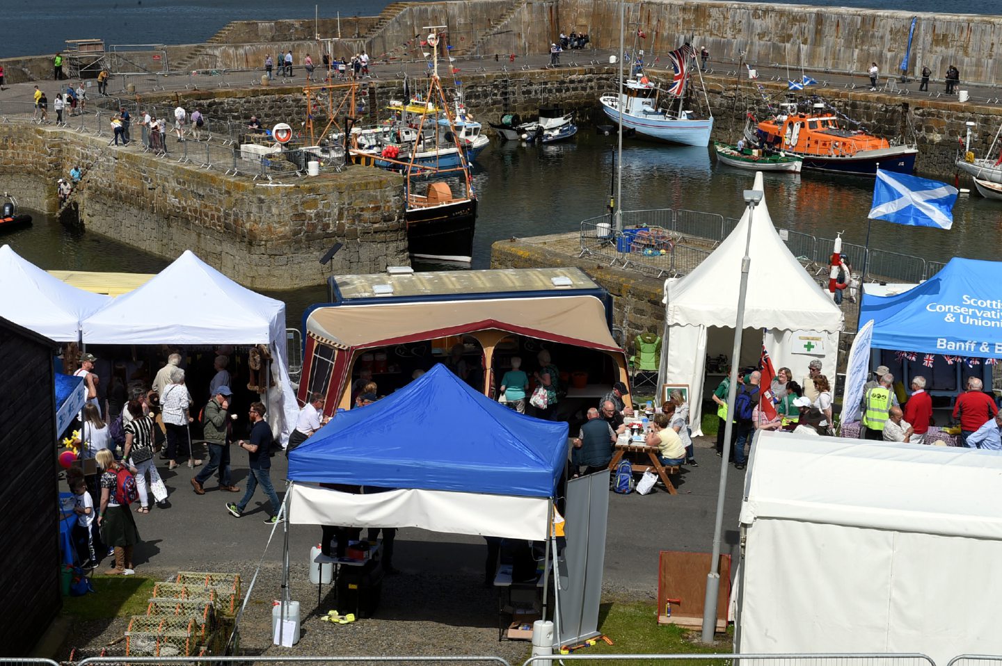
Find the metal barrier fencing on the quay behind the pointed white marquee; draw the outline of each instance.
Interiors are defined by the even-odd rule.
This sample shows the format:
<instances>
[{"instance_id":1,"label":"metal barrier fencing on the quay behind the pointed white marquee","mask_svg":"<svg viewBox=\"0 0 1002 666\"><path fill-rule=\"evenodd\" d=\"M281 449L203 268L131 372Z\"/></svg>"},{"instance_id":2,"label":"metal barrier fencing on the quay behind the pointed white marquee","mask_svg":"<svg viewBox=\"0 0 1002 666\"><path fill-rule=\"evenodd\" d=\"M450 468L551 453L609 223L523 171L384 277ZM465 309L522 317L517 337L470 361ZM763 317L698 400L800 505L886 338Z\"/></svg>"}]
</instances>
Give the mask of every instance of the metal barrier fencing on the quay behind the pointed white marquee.
<instances>
[{"instance_id":1,"label":"metal barrier fencing on the quay behind the pointed white marquee","mask_svg":"<svg viewBox=\"0 0 1002 666\"><path fill-rule=\"evenodd\" d=\"M616 230L612 214L598 215L581 222L580 247L585 254L601 256L609 265L620 265L656 276L685 274L709 255L712 247L737 226L737 219L716 213L695 210L622 211L622 231ZM635 229L646 227L669 242L652 247L650 243L634 242ZM778 228L780 238L790 251L803 262L814 263L820 275L827 271L835 250L833 238L819 238L792 229ZM709 241L709 247L693 246L686 239ZM698 241L695 243L698 245ZM664 251L661 251L661 250ZM863 245L842 241L842 253L854 270L866 265L864 279L921 282L936 274L945 263L926 261L921 256L902 254L884 249L867 249ZM827 277L825 277L827 279Z\"/></svg>"}]
</instances>

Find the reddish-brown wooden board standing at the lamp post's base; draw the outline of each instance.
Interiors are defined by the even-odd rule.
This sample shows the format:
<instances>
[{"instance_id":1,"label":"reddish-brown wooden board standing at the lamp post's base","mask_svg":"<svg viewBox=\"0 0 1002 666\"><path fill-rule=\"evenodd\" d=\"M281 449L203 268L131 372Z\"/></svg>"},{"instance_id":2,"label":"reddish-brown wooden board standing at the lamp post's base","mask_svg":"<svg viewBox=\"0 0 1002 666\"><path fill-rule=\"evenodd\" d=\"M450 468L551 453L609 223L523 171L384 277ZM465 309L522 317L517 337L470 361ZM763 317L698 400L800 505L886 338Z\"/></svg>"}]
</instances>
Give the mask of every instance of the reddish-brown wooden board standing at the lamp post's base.
<instances>
[{"instance_id":1,"label":"reddish-brown wooden board standing at the lamp post's base","mask_svg":"<svg viewBox=\"0 0 1002 666\"><path fill-rule=\"evenodd\" d=\"M702 627L703 599L706 595L706 575L709 573L709 553L661 551L657 570L657 623L683 627ZM716 631L727 627L727 604L730 599L730 557L720 556L720 590L716 598ZM671 616L664 613L668 599Z\"/></svg>"}]
</instances>

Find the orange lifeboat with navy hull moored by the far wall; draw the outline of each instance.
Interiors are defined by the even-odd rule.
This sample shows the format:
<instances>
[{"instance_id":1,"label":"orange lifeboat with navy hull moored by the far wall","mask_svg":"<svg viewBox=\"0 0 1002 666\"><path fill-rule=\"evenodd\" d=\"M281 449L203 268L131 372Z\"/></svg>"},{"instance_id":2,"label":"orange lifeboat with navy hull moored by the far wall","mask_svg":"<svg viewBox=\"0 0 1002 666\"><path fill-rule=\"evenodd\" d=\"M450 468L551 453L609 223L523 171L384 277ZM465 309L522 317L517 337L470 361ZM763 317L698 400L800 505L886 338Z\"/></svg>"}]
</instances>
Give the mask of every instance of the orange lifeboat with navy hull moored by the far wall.
<instances>
[{"instance_id":1,"label":"orange lifeboat with navy hull moored by the far wall","mask_svg":"<svg viewBox=\"0 0 1002 666\"><path fill-rule=\"evenodd\" d=\"M915 143L892 143L862 130L845 129L823 102L815 103L809 112L800 111L793 99L780 106L779 114L758 123L748 114L745 137L754 145L802 158L804 169L857 175L876 175L878 165L898 173L915 169L919 154Z\"/></svg>"}]
</instances>

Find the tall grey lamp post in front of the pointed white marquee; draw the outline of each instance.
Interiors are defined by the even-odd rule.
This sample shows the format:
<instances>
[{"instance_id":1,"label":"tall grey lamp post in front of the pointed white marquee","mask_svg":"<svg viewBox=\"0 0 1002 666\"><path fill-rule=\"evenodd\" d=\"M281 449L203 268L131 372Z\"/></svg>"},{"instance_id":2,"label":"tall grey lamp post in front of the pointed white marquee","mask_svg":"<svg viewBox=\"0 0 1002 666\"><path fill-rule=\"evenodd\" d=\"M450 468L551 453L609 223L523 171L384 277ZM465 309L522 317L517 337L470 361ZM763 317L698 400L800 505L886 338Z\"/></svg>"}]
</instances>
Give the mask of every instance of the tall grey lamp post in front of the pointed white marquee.
<instances>
[{"instance_id":1,"label":"tall grey lamp post in front of the pointed white marquee","mask_svg":"<svg viewBox=\"0 0 1002 666\"><path fill-rule=\"evenodd\" d=\"M748 267L752 247L752 226L755 223L755 207L762 202L765 192L760 189L745 189L744 202L747 204L747 236L744 239L744 256L741 257L741 281L737 291L737 315L734 318L734 348L730 354L730 387L727 389L727 423L723 429L723 452L720 458L720 487L716 493L716 520L713 523L713 552L706 575L706 596L702 602L702 642L712 643L716 631L716 597L720 590L720 532L723 527L723 496L727 488L727 464L730 459L730 435L733 432L734 398L737 396L737 372L740 366L741 332L744 329L744 299L748 290Z\"/></svg>"}]
</instances>

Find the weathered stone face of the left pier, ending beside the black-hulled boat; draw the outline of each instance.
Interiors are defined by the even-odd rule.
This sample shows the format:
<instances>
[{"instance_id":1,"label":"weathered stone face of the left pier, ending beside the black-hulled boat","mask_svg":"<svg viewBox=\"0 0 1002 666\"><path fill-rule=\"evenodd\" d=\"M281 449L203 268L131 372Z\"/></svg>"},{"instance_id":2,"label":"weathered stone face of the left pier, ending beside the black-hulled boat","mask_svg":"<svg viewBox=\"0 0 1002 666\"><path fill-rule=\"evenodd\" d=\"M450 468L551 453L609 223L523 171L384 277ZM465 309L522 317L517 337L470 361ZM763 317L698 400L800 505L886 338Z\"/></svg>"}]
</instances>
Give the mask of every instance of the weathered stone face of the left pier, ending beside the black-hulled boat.
<instances>
[{"instance_id":1,"label":"weathered stone face of the left pier, ending beside the black-hulled boat","mask_svg":"<svg viewBox=\"0 0 1002 666\"><path fill-rule=\"evenodd\" d=\"M273 187L106 143L56 128L2 125L0 178L5 187L41 183L19 191L20 203L53 212L52 184L81 163L86 177L76 196L86 229L166 258L191 249L250 288L288 289L322 283L332 271L408 263L399 175L350 167ZM336 241L345 247L333 265L321 265Z\"/></svg>"}]
</instances>

